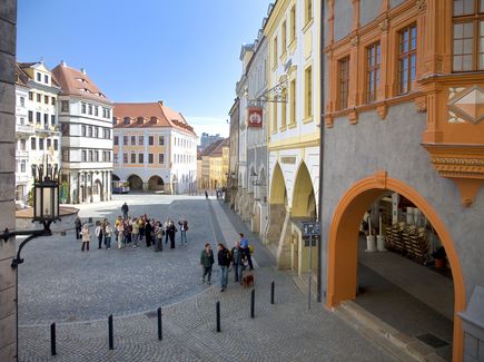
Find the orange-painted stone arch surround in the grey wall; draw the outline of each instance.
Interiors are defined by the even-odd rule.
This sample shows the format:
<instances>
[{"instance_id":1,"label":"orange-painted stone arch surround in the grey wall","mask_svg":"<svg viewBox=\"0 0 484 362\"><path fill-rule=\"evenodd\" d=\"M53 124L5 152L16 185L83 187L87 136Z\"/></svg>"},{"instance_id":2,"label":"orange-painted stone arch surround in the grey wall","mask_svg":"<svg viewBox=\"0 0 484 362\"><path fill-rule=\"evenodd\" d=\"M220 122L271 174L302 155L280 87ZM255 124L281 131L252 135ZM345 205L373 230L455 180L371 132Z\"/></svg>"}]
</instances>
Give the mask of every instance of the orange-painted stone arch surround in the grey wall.
<instances>
[{"instance_id":1,"label":"orange-painted stone arch surround in the grey wall","mask_svg":"<svg viewBox=\"0 0 484 362\"><path fill-rule=\"evenodd\" d=\"M386 172L378 172L353 185L334 212L328 239L326 305L334 307L356 297L359 224L368 205L388 190L403 195L421 209L445 247L454 281L453 360L460 361L463 358L464 335L457 313L465 310L465 286L454 243L429 203L408 185L387 177Z\"/></svg>"}]
</instances>

